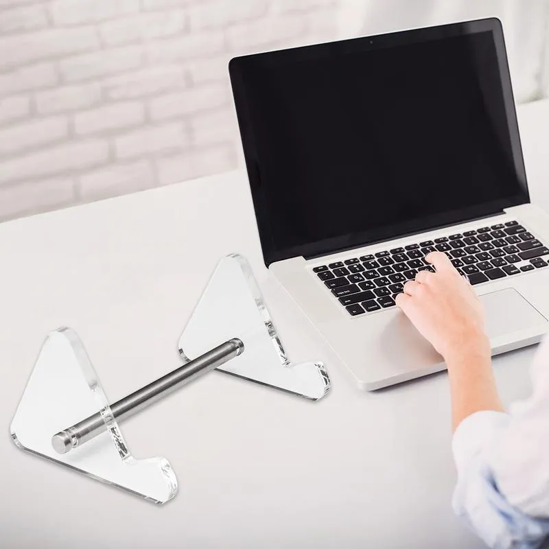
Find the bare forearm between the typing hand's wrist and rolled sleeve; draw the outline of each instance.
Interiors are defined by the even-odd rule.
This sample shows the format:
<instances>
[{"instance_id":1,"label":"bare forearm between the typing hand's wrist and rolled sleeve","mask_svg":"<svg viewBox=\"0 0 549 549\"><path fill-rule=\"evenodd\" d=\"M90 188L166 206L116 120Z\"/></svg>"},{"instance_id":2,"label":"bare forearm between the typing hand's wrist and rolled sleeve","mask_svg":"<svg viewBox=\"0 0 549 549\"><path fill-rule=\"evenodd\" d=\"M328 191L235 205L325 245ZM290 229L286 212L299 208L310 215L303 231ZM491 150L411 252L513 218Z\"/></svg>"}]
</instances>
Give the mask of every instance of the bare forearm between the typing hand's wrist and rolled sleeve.
<instances>
[{"instance_id":1,"label":"bare forearm between the typing hand's wrist and rolled sleeve","mask_svg":"<svg viewBox=\"0 0 549 549\"><path fill-rule=\"evenodd\" d=\"M482 342L474 349L446 359L452 395L452 430L480 410L504 411L493 376L490 348Z\"/></svg>"}]
</instances>

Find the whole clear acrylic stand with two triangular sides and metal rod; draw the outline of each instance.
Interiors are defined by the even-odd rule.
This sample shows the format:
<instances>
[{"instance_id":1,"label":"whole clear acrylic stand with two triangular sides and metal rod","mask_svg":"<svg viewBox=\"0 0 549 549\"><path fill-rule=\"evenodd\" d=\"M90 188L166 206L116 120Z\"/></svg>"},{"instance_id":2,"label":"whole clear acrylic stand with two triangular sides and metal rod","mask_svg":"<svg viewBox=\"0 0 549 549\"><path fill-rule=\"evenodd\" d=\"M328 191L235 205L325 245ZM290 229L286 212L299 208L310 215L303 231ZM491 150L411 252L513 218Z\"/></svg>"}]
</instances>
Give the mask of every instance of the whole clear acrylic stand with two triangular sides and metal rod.
<instances>
[{"instance_id":1,"label":"whole clear acrylic stand with two triangular sides and metal rod","mask_svg":"<svg viewBox=\"0 0 549 549\"><path fill-rule=\"evenodd\" d=\"M45 340L11 425L14 443L32 454L162 504L177 479L162 457L130 454L119 421L218 369L310 400L330 387L320 362L292 365L250 266L224 257L179 340L183 365L109 406L80 339L70 328Z\"/></svg>"}]
</instances>

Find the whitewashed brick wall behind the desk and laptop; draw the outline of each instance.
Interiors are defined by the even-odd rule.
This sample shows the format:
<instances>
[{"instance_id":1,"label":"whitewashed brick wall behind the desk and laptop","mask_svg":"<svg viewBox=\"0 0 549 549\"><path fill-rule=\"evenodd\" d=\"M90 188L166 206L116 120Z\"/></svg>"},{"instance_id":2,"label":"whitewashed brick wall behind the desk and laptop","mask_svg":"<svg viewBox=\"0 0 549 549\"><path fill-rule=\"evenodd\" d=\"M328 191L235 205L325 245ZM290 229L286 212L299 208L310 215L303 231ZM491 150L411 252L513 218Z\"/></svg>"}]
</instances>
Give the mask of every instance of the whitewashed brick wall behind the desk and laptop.
<instances>
[{"instance_id":1,"label":"whitewashed brick wall behind the desk and laptop","mask_svg":"<svg viewBox=\"0 0 549 549\"><path fill-rule=\"evenodd\" d=\"M237 167L227 63L343 0L0 0L0 221Z\"/></svg>"}]
</instances>

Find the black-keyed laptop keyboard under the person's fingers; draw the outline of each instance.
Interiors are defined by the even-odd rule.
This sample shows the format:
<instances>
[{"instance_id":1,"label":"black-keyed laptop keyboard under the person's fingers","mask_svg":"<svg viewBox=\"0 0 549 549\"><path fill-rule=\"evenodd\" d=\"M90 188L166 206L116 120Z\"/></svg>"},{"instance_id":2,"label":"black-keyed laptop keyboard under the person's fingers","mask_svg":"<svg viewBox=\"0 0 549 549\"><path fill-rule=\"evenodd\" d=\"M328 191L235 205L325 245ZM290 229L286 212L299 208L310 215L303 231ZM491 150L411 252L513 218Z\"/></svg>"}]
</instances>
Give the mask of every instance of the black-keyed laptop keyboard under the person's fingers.
<instances>
[{"instance_id":1,"label":"black-keyed laptop keyboard under the person's fingers","mask_svg":"<svg viewBox=\"0 0 549 549\"><path fill-rule=\"evenodd\" d=\"M549 248L532 233L509 221L474 231L408 244L373 255L350 257L313 268L351 316L395 306L403 285L420 270L434 272L425 255L439 251L451 259L472 285L512 277L548 266Z\"/></svg>"}]
</instances>

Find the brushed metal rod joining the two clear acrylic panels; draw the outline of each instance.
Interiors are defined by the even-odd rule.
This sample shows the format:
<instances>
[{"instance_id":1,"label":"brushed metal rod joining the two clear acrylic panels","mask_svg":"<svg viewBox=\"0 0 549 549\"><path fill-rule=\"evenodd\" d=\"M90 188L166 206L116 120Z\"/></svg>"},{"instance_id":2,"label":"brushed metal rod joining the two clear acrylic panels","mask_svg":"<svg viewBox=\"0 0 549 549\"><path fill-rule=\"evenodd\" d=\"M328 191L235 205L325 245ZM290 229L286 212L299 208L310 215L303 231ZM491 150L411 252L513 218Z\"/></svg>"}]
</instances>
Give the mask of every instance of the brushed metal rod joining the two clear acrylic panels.
<instances>
[{"instance_id":1,"label":"brushed metal rod joining the two clear acrylic panels","mask_svg":"<svg viewBox=\"0 0 549 549\"><path fill-rule=\"evenodd\" d=\"M226 341L219 347L120 399L110 406L110 410L117 421L122 421L243 352L244 343L240 339ZM54 434L51 437L51 445L58 454L67 454L71 449L93 439L104 430L106 430L105 423L101 414L97 413Z\"/></svg>"}]
</instances>

